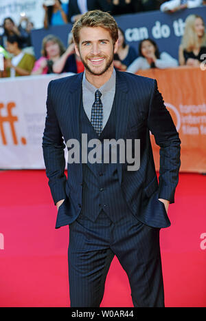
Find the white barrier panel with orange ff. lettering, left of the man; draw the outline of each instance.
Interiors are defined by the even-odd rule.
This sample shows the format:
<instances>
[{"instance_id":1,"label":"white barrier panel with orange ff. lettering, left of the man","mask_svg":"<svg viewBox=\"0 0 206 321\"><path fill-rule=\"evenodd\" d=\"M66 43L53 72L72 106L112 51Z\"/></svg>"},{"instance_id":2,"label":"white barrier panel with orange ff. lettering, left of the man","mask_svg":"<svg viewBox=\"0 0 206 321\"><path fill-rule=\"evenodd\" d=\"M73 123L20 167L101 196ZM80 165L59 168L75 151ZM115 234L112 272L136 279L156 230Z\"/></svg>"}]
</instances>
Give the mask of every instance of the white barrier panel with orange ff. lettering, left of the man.
<instances>
[{"instance_id":1,"label":"white barrier panel with orange ff. lettering, left of the man","mask_svg":"<svg viewBox=\"0 0 206 321\"><path fill-rule=\"evenodd\" d=\"M47 85L68 74L0 79L0 169L43 169Z\"/></svg>"}]
</instances>

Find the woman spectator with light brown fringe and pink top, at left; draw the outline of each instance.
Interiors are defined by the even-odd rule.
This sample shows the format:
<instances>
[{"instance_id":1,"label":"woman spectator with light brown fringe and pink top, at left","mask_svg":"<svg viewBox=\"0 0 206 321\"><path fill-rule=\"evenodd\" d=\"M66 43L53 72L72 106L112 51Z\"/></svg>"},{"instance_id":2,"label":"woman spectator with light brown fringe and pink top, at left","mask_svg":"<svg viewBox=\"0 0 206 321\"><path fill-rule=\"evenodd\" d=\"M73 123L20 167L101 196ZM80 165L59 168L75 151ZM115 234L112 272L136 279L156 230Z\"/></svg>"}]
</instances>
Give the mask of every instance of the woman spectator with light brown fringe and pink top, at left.
<instances>
[{"instance_id":1,"label":"woman spectator with light brown fringe and pink top, at left","mask_svg":"<svg viewBox=\"0 0 206 321\"><path fill-rule=\"evenodd\" d=\"M48 34L42 42L41 58L39 58L32 70L32 74L51 74L53 64L65 52L62 41L53 34Z\"/></svg>"}]
</instances>

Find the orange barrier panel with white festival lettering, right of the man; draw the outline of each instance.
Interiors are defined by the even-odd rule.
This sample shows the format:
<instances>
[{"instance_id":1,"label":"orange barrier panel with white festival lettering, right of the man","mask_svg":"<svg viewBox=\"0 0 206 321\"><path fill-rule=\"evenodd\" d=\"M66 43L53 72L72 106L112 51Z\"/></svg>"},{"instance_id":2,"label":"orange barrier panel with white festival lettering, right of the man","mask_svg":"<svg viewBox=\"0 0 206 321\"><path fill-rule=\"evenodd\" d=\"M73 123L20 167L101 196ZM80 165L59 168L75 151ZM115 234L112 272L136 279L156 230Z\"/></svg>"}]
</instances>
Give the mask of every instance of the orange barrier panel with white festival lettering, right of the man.
<instances>
[{"instance_id":1,"label":"orange barrier panel with white festival lettering, right of the man","mask_svg":"<svg viewBox=\"0 0 206 321\"><path fill-rule=\"evenodd\" d=\"M206 70L179 67L139 70L138 74L157 79L181 138L181 172L206 173ZM151 142L159 170L159 146L153 135Z\"/></svg>"}]
</instances>

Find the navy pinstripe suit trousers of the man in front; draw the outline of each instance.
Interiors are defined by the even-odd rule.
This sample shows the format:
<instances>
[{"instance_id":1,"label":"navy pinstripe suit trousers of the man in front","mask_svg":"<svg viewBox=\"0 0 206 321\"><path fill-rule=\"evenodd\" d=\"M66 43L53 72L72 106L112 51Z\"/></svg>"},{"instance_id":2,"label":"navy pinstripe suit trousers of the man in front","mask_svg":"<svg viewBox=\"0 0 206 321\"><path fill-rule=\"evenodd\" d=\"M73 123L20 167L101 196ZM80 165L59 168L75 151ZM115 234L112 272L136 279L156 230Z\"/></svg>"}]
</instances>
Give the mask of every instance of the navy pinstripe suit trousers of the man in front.
<instances>
[{"instance_id":1,"label":"navy pinstripe suit trousers of the man in front","mask_svg":"<svg viewBox=\"0 0 206 321\"><path fill-rule=\"evenodd\" d=\"M81 212L69 225L71 307L100 307L115 255L127 273L134 307L164 307L159 230L133 214L114 223L104 211L95 222Z\"/></svg>"}]
</instances>

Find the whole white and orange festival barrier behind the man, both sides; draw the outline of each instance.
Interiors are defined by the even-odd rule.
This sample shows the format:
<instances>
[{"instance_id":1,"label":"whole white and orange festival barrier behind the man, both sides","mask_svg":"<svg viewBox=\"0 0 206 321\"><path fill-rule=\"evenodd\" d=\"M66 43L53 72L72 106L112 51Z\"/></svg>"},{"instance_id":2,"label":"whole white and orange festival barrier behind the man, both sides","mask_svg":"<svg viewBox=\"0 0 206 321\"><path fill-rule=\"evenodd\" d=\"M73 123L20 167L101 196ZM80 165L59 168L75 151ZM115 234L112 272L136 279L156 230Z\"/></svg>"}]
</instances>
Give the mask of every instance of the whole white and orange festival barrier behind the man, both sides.
<instances>
[{"instance_id":1,"label":"whole white and orange festival barrier behind the man, both sides","mask_svg":"<svg viewBox=\"0 0 206 321\"><path fill-rule=\"evenodd\" d=\"M181 171L206 173L206 70L179 67L146 70L139 74L157 79L165 105L180 134ZM41 144L47 85L52 79L69 75L0 80L1 169L45 168ZM159 169L159 147L152 135L151 141L156 168ZM65 156L66 152L67 149Z\"/></svg>"}]
</instances>

